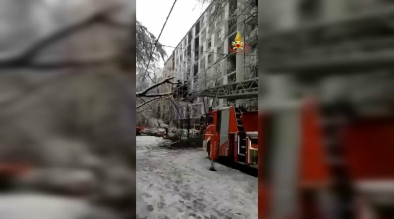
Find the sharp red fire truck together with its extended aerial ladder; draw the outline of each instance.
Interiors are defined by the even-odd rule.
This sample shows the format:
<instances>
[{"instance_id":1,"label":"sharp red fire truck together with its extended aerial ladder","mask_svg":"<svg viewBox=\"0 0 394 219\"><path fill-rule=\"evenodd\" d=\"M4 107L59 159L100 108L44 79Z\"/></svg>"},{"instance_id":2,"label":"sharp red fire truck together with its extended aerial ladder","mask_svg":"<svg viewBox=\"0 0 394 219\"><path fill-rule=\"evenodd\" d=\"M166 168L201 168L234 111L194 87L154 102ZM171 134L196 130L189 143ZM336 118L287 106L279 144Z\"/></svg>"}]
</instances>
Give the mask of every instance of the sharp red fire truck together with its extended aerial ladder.
<instances>
[{"instance_id":1,"label":"sharp red fire truck together with its extended aerial ladder","mask_svg":"<svg viewBox=\"0 0 394 219\"><path fill-rule=\"evenodd\" d=\"M189 94L193 97L226 98L228 101L258 97L258 77L231 82ZM209 110L205 118L203 149L211 160L227 158L257 168L258 112L245 112L235 105Z\"/></svg>"}]
</instances>

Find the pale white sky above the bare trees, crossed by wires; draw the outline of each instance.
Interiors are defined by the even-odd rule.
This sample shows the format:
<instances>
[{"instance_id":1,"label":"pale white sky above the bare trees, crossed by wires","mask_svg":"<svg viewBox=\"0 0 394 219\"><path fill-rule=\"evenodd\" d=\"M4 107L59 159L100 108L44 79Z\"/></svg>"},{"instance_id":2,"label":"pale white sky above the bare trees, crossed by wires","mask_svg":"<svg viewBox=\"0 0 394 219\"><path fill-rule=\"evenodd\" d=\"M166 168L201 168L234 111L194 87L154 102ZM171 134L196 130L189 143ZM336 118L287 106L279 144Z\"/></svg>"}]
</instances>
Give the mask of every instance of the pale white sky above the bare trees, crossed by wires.
<instances>
[{"instance_id":1,"label":"pale white sky above the bare trees, crossed by wires","mask_svg":"<svg viewBox=\"0 0 394 219\"><path fill-rule=\"evenodd\" d=\"M159 37L174 0L136 0L136 18L148 31ZM177 46L195 24L208 4L197 0L177 0L159 42L163 45ZM164 47L168 57L173 48ZM167 57L167 58L168 58ZM160 63L163 66L164 62Z\"/></svg>"}]
</instances>

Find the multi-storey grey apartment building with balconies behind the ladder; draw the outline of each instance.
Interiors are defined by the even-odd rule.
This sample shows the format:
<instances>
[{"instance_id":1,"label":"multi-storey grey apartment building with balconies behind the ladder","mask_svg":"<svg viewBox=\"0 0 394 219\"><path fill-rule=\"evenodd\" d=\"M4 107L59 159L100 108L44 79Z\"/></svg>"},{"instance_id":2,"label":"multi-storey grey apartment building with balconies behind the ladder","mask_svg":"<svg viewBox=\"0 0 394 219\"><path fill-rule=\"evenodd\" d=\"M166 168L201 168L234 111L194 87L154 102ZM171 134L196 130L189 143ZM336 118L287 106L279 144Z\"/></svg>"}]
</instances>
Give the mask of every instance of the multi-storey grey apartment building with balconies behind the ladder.
<instances>
[{"instance_id":1,"label":"multi-storey grey apartment building with balconies behind the ladder","mask_svg":"<svg viewBox=\"0 0 394 219\"><path fill-rule=\"evenodd\" d=\"M229 55L229 44L234 41L237 31L250 48L245 54ZM256 77L257 41L257 1L214 1L174 49L166 62L166 65L173 63L168 73L175 76L174 81L186 82L192 94ZM228 102L226 99L197 97L193 103L177 104L182 112L174 112L174 120L197 119L208 107L227 106Z\"/></svg>"}]
</instances>

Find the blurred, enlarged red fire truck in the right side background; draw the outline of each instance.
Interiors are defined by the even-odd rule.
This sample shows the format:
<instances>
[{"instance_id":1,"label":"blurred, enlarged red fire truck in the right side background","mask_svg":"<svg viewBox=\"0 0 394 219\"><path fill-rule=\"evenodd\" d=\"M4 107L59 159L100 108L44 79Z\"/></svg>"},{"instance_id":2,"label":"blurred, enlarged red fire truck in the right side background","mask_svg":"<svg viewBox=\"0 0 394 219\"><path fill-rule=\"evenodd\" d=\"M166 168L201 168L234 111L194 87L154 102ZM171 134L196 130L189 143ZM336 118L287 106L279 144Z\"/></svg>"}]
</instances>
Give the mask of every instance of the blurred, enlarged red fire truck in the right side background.
<instances>
[{"instance_id":1,"label":"blurred, enlarged red fire truck in the right side background","mask_svg":"<svg viewBox=\"0 0 394 219\"><path fill-rule=\"evenodd\" d=\"M286 107L259 112L259 219L393 218L393 117L346 119L314 99Z\"/></svg>"}]
</instances>

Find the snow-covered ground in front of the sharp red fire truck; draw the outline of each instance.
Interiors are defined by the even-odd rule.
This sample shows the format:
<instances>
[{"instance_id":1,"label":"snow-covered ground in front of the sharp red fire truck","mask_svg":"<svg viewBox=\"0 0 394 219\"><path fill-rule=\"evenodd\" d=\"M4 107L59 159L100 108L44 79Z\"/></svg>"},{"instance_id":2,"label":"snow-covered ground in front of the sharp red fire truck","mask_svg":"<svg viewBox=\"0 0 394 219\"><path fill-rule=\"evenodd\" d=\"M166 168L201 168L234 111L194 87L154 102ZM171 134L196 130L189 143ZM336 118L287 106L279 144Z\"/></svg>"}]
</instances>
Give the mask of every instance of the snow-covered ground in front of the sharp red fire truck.
<instances>
[{"instance_id":1,"label":"snow-covered ground in front of the sharp red fire truck","mask_svg":"<svg viewBox=\"0 0 394 219\"><path fill-rule=\"evenodd\" d=\"M158 147L136 137L137 219L257 219L258 181L216 163L198 149Z\"/></svg>"}]
</instances>

